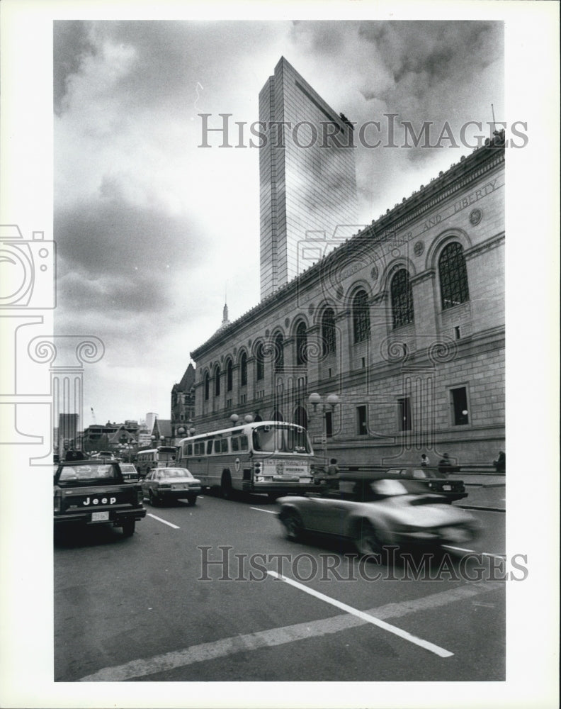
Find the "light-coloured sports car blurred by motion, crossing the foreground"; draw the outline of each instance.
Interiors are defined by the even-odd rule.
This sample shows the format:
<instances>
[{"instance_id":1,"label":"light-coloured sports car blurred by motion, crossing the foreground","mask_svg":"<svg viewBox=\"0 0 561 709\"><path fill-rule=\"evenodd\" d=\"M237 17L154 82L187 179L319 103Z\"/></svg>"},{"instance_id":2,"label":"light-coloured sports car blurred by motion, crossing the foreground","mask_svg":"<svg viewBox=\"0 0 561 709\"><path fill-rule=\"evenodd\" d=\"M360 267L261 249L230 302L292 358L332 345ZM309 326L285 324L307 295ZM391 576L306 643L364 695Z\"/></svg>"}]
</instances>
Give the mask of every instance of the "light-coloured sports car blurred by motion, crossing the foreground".
<instances>
[{"instance_id":1,"label":"light-coloured sports car blurred by motion, crossing the foreground","mask_svg":"<svg viewBox=\"0 0 561 709\"><path fill-rule=\"evenodd\" d=\"M395 478L358 479L348 497L331 492L278 502L288 539L314 532L349 540L359 554L378 554L384 545L465 543L479 529L470 513L446 504L443 496L426 493L417 481Z\"/></svg>"}]
</instances>

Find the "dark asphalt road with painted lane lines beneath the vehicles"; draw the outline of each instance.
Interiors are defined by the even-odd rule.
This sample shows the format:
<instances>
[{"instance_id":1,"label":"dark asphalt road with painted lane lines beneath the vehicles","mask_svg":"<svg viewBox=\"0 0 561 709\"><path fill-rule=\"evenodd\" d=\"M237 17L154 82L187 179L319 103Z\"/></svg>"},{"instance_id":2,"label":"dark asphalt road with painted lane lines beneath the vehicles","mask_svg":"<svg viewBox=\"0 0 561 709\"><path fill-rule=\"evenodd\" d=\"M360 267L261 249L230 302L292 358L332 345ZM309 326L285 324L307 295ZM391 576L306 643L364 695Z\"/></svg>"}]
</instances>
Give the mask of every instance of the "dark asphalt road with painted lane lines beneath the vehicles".
<instances>
[{"instance_id":1,"label":"dark asphalt road with painted lane lines beneath the vehicles","mask_svg":"<svg viewBox=\"0 0 561 709\"><path fill-rule=\"evenodd\" d=\"M260 496L147 510L55 541L55 681L504 680L504 513L420 566L290 542Z\"/></svg>"}]
</instances>

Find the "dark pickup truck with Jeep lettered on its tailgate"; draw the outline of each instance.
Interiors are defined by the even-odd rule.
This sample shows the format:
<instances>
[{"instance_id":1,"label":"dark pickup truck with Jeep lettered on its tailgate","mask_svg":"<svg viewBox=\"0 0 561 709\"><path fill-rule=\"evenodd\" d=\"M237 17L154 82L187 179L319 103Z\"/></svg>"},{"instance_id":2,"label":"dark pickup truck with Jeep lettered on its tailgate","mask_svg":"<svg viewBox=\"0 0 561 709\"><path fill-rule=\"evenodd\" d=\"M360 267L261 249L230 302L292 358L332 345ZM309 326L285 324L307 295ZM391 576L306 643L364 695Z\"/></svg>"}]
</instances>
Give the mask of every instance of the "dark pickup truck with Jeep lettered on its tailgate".
<instances>
[{"instance_id":1,"label":"dark pickup truck with Jeep lettered on its tailgate","mask_svg":"<svg viewBox=\"0 0 561 709\"><path fill-rule=\"evenodd\" d=\"M55 530L69 523L123 527L135 533L146 516L140 484L123 479L118 462L88 459L60 463L54 477Z\"/></svg>"}]
</instances>

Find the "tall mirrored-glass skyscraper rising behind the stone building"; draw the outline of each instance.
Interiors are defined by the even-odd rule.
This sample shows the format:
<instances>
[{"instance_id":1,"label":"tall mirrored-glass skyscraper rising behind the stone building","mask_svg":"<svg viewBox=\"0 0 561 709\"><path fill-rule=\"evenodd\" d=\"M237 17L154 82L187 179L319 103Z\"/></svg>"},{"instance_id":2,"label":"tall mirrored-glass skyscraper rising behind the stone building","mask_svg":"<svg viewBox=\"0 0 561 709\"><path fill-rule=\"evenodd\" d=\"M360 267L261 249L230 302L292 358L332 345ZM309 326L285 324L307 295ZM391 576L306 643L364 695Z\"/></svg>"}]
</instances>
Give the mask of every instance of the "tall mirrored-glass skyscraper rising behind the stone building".
<instances>
[{"instance_id":1,"label":"tall mirrored-glass skyscraper rising behind the stone building","mask_svg":"<svg viewBox=\"0 0 561 709\"><path fill-rule=\"evenodd\" d=\"M265 298L356 233L357 199L352 125L284 57L259 92L259 121Z\"/></svg>"}]
</instances>

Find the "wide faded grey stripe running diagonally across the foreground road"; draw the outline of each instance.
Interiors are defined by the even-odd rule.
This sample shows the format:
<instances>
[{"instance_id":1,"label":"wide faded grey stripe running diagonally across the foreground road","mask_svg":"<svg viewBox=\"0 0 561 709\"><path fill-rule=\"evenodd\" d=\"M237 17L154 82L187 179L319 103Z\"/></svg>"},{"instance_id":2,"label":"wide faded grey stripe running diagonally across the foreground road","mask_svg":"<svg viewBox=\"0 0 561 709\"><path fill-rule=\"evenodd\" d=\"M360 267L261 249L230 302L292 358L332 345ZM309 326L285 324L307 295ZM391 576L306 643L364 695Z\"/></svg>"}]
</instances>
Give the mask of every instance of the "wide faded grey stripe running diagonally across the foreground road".
<instances>
[{"instance_id":1,"label":"wide faded grey stripe running diagonally across the foreground road","mask_svg":"<svg viewBox=\"0 0 561 709\"><path fill-rule=\"evenodd\" d=\"M473 596L480 596L482 593L497 591L504 588L504 583L500 581L487 581L481 584L468 584L453 588L451 591L439 591L431 593L423 598L402 601L402 603L386 603L378 608L371 608L367 611L378 618L402 618L404 615L411 615L423 610L433 610L442 608L450 603L465 601ZM335 615L322 620L305 621L295 625L285 625L285 627L275 627L271 630L261 630L251 632L247 635L235 635L226 637L215 642L204 642L200 645L192 645L176 652L166 652L155 655L147 659L131 660L115 667L104 667L103 669L81 677L80 682L118 682L135 679L135 677L145 677L159 672L186 667L196 662L205 662L219 657L228 657L237 652L249 652L261 649L262 647L276 647L277 645L297 642L298 640L310 640L312 637L322 637L332 635L336 632L349 630L353 627L364 625L362 618L345 613Z\"/></svg>"}]
</instances>

